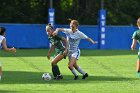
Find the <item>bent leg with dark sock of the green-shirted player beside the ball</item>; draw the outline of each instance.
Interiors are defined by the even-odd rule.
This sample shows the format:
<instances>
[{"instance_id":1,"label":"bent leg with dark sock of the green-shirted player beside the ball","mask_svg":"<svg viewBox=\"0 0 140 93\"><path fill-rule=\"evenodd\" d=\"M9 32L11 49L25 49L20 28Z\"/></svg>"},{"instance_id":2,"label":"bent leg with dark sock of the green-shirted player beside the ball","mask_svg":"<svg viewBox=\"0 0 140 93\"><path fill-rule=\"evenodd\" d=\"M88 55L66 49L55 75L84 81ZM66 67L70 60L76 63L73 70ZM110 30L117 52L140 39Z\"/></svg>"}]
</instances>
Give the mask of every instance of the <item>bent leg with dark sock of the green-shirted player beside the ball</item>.
<instances>
[{"instance_id":1,"label":"bent leg with dark sock of the green-shirted player beside the ball","mask_svg":"<svg viewBox=\"0 0 140 93\"><path fill-rule=\"evenodd\" d=\"M60 75L60 70L59 70L59 67L57 65L57 63L62 60L64 58L63 55L61 54L58 54L53 60L52 60L52 72L53 72L53 75L54 75L54 78L57 79L58 77L61 77L62 76Z\"/></svg>"}]
</instances>

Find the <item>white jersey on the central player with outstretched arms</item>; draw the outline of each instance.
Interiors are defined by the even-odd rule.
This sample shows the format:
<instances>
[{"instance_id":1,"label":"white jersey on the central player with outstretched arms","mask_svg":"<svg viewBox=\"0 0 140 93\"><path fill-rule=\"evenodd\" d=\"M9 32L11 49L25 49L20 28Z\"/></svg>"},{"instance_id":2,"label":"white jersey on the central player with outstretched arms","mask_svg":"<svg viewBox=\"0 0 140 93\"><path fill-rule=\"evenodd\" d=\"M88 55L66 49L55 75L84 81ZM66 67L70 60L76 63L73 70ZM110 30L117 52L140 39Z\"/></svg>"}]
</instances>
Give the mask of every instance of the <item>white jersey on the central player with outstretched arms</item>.
<instances>
[{"instance_id":1,"label":"white jersey on the central player with outstretched arms","mask_svg":"<svg viewBox=\"0 0 140 93\"><path fill-rule=\"evenodd\" d=\"M64 33L67 35L68 38L69 52L77 51L79 49L78 46L80 40L88 38L88 36L86 36L83 32L80 32L78 29L74 33L71 29L64 29Z\"/></svg>"}]
</instances>

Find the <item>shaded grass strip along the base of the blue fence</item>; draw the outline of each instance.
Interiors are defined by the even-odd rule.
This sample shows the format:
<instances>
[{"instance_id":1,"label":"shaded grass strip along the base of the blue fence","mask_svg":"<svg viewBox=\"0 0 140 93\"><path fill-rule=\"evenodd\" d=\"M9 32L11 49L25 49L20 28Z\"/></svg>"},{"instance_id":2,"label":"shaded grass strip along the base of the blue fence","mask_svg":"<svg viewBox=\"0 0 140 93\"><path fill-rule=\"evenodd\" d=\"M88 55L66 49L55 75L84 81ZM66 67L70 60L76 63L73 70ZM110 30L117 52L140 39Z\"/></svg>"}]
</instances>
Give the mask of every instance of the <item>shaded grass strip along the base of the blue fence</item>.
<instances>
[{"instance_id":1,"label":"shaded grass strip along the base of the blue fence","mask_svg":"<svg viewBox=\"0 0 140 93\"><path fill-rule=\"evenodd\" d=\"M48 49L18 49L13 53L0 52L1 57L35 57L47 56ZM53 55L53 54L52 54ZM115 56L115 55L137 55L136 51L131 50L83 50L81 56Z\"/></svg>"}]
</instances>

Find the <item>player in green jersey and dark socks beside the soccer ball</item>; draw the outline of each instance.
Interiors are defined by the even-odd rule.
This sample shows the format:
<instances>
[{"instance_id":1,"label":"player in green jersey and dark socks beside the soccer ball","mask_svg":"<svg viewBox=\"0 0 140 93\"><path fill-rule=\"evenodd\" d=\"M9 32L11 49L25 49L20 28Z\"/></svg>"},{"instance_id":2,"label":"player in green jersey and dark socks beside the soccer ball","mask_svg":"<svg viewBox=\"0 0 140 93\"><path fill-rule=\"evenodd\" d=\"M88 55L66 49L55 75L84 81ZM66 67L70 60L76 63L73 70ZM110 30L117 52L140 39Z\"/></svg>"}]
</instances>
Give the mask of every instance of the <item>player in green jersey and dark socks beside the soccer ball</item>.
<instances>
[{"instance_id":1,"label":"player in green jersey and dark socks beside the soccer ball","mask_svg":"<svg viewBox=\"0 0 140 93\"><path fill-rule=\"evenodd\" d=\"M48 24L46 26L46 32L48 34L48 38L50 40L51 46L50 46L50 50L48 52L47 57L48 59L50 59L50 55L55 49L56 54L51 62L52 73L54 75L55 80L60 80L63 78L63 76L60 73L57 63L63 58L66 58L68 43L67 43L67 40L60 35L53 36L52 35L53 31L54 31L53 26L51 24ZM64 47L64 43L65 43L65 47Z\"/></svg>"}]
</instances>

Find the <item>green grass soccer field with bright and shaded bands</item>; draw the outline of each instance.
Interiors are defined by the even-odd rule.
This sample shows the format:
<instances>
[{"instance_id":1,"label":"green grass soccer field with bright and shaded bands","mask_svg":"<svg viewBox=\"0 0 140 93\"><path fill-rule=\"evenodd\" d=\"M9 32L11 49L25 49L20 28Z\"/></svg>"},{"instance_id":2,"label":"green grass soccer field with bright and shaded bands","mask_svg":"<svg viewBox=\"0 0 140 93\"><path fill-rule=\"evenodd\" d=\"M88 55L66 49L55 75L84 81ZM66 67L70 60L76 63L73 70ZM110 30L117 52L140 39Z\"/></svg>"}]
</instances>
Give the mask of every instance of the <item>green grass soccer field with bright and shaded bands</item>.
<instances>
[{"instance_id":1,"label":"green grass soccer field with bright and shaded bands","mask_svg":"<svg viewBox=\"0 0 140 93\"><path fill-rule=\"evenodd\" d=\"M79 65L89 73L86 80L73 80L67 68L68 59L58 65L64 76L60 81L43 81L44 72L51 75L47 49L19 49L16 54L0 51L3 77L0 93L138 93L136 76L137 51L81 50ZM80 78L82 77L79 74Z\"/></svg>"}]
</instances>

